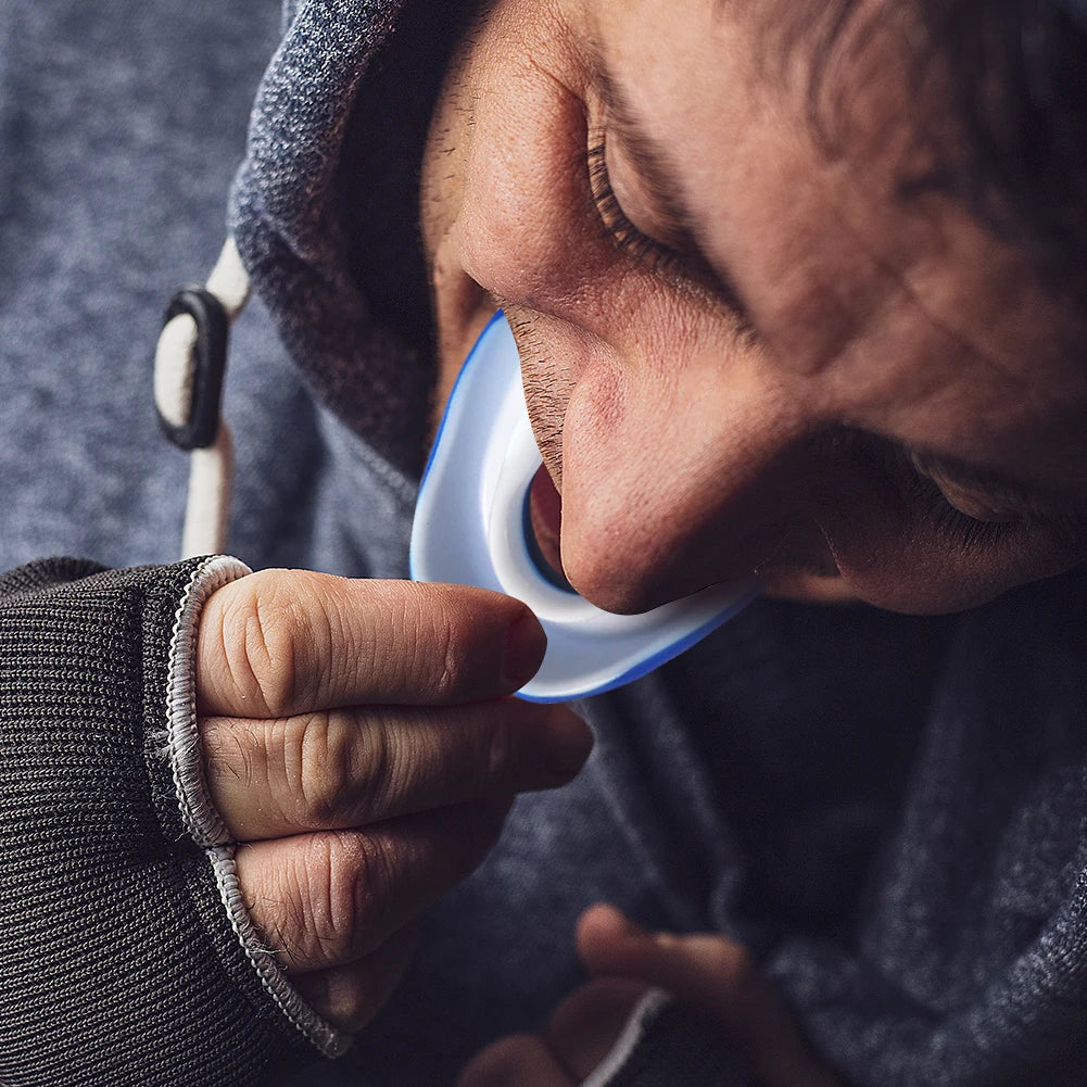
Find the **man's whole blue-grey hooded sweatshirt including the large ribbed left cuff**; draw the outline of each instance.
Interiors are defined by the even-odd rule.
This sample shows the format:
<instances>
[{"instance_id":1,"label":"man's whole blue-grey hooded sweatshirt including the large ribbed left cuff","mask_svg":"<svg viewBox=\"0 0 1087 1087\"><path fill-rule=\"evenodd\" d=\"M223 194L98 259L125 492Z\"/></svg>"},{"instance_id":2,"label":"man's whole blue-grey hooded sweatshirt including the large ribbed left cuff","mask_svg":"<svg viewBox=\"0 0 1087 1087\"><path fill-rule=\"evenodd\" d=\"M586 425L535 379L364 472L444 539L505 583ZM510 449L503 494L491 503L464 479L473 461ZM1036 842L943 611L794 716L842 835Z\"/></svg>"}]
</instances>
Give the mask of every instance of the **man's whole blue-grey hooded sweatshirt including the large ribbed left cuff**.
<instances>
[{"instance_id":1,"label":"man's whole blue-grey hooded sweatshirt including the large ribbed left cuff","mask_svg":"<svg viewBox=\"0 0 1087 1087\"><path fill-rule=\"evenodd\" d=\"M601 899L746 940L850 1084L1087 1082L1082 570L941 619L758 602L592 700L583 774L517 801L428 914L388 1007L314 1064L312 1030L230 923L215 857L187 836L163 752L193 570L163 542L184 468L138 413L149 377L134 389L146 314L216 248L240 132L208 118L227 100L239 116L282 30L230 201L259 296L227 388L232 550L403 575L433 383L415 178L457 11L299 0L278 28L255 0L187 11L16 0L0 29L0 132L20 152L0 188L0 545L9 565L160 563L38 563L0 583L0 1084L303 1067L298 1083L451 1083L579 984L573 926ZM165 228L193 221L211 226L180 242ZM747 1080L680 1009L632 1039L617 1084Z\"/></svg>"}]
</instances>

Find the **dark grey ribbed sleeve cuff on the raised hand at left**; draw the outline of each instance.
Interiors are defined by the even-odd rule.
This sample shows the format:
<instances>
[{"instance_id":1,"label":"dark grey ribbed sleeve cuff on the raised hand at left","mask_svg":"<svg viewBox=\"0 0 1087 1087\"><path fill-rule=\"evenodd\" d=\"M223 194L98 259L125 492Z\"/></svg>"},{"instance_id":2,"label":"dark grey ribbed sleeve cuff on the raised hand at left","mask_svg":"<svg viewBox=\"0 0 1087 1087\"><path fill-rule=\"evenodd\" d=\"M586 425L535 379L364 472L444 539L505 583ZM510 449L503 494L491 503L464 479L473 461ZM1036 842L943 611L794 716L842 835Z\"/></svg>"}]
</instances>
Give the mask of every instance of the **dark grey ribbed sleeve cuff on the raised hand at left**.
<instances>
[{"instance_id":1,"label":"dark grey ribbed sleeve cuff on the raised hand at left","mask_svg":"<svg viewBox=\"0 0 1087 1087\"><path fill-rule=\"evenodd\" d=\"M187 836L163 750L198 572L0 577L0 1084L270 1084L320 1057Z\"/></svg>"}]
</instances>

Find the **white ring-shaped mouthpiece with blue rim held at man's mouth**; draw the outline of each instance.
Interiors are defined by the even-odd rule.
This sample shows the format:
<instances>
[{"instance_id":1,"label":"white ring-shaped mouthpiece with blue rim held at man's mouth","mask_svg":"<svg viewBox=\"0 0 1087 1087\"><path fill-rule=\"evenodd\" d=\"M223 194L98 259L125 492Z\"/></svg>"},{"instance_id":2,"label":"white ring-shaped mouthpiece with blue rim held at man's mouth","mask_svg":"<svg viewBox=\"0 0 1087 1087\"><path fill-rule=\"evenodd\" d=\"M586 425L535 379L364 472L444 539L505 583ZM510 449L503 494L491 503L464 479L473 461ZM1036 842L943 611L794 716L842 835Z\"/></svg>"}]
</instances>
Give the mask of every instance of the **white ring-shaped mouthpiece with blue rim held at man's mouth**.
<instances>
[{"instance_id":1,"label":"white ring-shaped mouthpiece with blue rim held at man's mouth","mask_svg":"<svg viewBox=\"0 0 1087 1087\"><path fill-rule=\"evenodd\" d=\"M498 313L464 363L430 452L415 507L411 573L417 582L495 589L535 612L547 654L521 698L565 702L637 679L755 595L752 584L715 585L641 615L614 615L560 588L526 539L528 487L541 463L517 349Z\"/></svg>"}]
</instances>

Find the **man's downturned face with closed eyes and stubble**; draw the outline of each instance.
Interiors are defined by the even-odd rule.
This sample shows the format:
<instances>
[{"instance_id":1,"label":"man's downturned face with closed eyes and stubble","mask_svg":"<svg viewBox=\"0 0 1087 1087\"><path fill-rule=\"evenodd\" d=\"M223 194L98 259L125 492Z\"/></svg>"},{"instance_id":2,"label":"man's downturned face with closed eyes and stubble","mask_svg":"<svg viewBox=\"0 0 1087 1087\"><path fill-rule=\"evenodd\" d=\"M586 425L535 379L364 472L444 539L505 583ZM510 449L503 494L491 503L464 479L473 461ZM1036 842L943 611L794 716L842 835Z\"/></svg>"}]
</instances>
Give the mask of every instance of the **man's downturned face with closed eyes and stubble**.
<instances>
[{"instance_id":1,"label":"man's downturned face with closed eyes and stubble","mask_svg":"<svg viewBox=\"0 0 1087 1087\"><path fill-rule=\"evenodd\" d=\"M1074 565L1078 316L965 210L901 195L924 103L894 27L827 84L829 153L803 45L767 63L734 7L498 0L473 25L424 162L442 389L501 304L563 569L609 610L757 571L938 612Z\"/></svg>"}]
</instances>

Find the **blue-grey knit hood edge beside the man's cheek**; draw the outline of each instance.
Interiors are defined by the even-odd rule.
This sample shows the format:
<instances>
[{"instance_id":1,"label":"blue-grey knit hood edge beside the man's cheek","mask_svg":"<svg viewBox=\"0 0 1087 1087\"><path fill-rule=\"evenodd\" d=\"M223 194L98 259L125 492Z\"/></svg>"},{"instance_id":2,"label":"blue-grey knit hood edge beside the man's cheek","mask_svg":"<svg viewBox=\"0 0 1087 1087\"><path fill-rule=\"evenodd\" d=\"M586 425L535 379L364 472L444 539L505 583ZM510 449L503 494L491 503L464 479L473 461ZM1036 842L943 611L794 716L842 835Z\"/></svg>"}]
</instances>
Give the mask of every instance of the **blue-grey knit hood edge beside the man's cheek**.
<instances>
[{"instance_id":1,"label":"blue-grey knit hood edge beside the man's cheek","mask_svg":"<svg viewBox=\"0 0 1087 1087\"><path fill-rule=\"evenodd\" d=\"M418 172L463 5L287 0L229 227L317 399L422 468L434 385Z\"/></svg>"}]
</instances>

